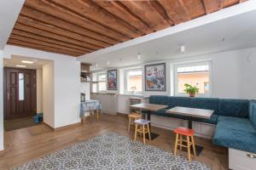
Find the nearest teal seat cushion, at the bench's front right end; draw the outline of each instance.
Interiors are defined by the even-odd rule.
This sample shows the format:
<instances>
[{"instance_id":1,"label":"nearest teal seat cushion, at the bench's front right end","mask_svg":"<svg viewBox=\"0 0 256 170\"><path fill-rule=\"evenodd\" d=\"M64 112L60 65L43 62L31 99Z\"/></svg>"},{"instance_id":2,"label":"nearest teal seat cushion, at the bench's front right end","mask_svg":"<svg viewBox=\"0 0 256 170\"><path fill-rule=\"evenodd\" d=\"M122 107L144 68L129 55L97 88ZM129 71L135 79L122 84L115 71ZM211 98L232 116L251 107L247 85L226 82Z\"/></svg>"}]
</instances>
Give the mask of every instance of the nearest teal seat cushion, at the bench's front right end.
<instances>
[{"instance_id":1,"label":"nearest teal seat cushion, at the bench's front right end","mask_svg":"<svg viewBox=\"0 0 256 170\"><path fill-rule=\"evenodd\" d=\"M256 153L256 133L218 126L215 129L213 144L236 150Z\"/></svg>"}]
</instances>

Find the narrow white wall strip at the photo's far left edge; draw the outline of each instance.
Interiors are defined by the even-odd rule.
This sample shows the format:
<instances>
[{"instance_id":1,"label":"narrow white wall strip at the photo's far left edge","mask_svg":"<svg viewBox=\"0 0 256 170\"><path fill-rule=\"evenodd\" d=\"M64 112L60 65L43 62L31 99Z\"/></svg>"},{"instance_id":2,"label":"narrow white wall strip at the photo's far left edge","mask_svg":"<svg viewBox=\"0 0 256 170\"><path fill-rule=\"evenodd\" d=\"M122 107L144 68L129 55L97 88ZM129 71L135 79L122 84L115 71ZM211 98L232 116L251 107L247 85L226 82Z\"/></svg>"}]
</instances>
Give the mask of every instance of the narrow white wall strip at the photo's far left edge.
<instances>
[{"instance_id":1,"label":"narrow white wall strip at the photo's far left edge","mask_svg":"<svg viewBox=\"0 0 256 170\"><path fill-rule=\"evenodd\" d=\"M3 51L0 50L0 150L3 150Z\"/></svg>"}]
</instances>

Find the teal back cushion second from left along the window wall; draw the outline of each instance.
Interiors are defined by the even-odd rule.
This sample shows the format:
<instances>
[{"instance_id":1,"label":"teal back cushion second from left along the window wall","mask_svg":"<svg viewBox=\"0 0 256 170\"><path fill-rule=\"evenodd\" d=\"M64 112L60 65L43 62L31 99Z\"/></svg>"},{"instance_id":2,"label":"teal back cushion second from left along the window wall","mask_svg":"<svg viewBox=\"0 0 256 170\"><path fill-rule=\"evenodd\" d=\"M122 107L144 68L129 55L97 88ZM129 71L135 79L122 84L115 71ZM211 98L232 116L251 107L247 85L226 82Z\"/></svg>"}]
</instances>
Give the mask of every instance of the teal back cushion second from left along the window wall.
<instances>
[{"instance_id":1,"label":"teal back cushion second from left along the window wall","mask_svg":"<svg viewBox=\"0 0 256 170\"><path fill-rule=\"evenodd\" d=\"M170 96L168 98L168 106L169 106L169 108L173 108L176 106L189 107L190 106L190 98Z\"/></svg>"}]
</instances>

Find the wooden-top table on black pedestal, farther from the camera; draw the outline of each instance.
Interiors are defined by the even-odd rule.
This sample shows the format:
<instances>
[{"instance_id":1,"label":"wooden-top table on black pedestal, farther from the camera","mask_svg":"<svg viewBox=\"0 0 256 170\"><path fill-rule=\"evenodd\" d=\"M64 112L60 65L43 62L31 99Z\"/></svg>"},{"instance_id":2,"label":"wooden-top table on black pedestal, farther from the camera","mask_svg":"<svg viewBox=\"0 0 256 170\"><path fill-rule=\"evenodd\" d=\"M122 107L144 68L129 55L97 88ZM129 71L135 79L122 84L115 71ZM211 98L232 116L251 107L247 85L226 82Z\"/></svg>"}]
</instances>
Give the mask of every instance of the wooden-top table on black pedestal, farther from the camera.
<instances>
[{"instance_id":1,"label":"wooden-top table on black pedestal, farther from the camera","mask_svg":"<svg viewBox=\"0 0 256 170\"><path fill-rule=\"evenodd\" d=\"M148 121L151 120L151 111L160 111L161 109L166 109L168 105L155 105L155 104L137 104L137 105L130 105L131 108L138 109L138 110L146 110L148 111ZM149 128L151 129L151 125L149 123ZM157 138L159 134L157 133L152 133L150 130L151 134L151 140ZM147 135L148 138L148 135Z\"/></svg>"}]
</instances>

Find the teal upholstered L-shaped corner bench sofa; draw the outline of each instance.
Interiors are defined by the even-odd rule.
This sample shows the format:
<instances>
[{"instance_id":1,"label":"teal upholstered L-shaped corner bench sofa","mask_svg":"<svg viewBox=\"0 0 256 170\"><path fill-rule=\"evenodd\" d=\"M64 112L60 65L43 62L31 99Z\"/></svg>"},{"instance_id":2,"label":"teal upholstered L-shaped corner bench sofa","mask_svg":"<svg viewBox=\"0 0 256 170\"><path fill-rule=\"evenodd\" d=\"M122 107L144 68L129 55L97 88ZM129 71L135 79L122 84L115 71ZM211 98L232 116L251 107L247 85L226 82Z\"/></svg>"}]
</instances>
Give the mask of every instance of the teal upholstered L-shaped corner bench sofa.
<instances>
[{"instance_id":1,"label":"teal upholstered L-shaped corner bench sofa","mask_svg":"<svg viewBox=\"0 0 256 170\"><path fill-rule=\"evenodd\" d=\"M209 120L202 118L193 120L216 125L213 144L256 153L256 100L151 95L149 103L168 105L167 109L154 111L151 114L185 120L188 117L168 114L166 110L175 106L214 110Z\"/></svg>"}]
</instances>

